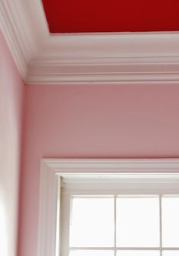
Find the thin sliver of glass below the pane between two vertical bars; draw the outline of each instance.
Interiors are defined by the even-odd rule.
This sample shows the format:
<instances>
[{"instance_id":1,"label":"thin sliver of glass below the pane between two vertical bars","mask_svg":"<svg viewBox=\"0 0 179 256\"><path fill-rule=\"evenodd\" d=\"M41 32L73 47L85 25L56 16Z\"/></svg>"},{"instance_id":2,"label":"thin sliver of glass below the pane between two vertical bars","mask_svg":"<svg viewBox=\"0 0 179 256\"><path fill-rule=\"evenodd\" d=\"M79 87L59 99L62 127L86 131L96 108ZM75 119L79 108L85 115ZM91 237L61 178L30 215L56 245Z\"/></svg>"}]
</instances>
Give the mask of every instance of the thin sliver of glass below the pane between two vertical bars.
<instances>
[{"instance_id":1,"label":"thin sliver of glass below the pane between two vertical bars","mask_svg":"<svg viewBox=\"0 0 179 256\"><path fill-rule=\"evenodd\" d=\"M160 256L160 251L117 251L117 256Z\"/></svg>"}]
</instances>

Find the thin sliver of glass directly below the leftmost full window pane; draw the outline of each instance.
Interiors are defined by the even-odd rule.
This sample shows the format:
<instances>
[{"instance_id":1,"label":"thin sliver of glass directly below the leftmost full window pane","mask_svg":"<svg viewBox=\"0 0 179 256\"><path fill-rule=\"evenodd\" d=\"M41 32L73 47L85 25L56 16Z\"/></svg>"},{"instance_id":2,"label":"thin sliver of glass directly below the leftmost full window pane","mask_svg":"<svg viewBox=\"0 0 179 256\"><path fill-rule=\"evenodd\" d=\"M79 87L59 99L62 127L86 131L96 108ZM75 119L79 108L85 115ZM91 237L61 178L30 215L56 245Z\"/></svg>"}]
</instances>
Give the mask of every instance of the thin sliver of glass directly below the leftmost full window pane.
<instances>
[{"instance_id":1,"label":"thin sliver of glass directly below the leftmost full window pane","mask_svg":"<svg viewBox=\"0 0 179 256\"><path fill-rule=\"evenodd\" d=\"M114 251L71 250L70 256L114 256Z\"/></svg>"}]
</instances>

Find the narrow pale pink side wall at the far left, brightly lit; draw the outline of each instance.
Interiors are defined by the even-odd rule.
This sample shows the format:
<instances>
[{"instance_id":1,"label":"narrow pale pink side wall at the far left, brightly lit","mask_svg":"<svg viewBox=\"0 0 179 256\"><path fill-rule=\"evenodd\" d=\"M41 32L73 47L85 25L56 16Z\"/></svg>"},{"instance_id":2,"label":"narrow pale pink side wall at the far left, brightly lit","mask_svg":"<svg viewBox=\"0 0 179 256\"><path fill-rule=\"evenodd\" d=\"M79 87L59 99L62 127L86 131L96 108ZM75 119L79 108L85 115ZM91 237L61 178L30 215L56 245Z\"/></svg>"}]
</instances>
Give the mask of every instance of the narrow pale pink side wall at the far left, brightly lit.
<instances>
[{"instance_id":1,"label":"narrow pale pink side wall at the far left, brightly lit","mask_svg":"<svg viewBox=\"0 0 179 256\"><path fill-rule=\"evenodd\" d=\"M0 31L0 255L17 252L24 83Z\"/></svg>"}]
</instances>

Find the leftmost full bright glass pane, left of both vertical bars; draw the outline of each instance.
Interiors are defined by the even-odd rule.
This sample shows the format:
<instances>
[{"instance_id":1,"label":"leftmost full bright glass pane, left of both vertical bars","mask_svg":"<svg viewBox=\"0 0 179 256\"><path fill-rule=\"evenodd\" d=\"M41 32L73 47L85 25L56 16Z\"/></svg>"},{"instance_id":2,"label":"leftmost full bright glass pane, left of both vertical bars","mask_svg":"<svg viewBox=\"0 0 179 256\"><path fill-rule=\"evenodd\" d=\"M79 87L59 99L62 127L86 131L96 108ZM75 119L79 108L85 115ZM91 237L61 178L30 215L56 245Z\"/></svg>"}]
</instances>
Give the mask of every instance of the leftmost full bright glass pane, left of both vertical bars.
<instances>
[{"instance_id":1,"label":"leftmost full bright glass pane, left of both vertical bars","mask_svg":"<svg viewBox=\"0 0 179 256\"><path fill-rule=\"evenodd\" d=\"M74 198L70 246L114 246L114 198Z\"/></svg>"}]
</instances>

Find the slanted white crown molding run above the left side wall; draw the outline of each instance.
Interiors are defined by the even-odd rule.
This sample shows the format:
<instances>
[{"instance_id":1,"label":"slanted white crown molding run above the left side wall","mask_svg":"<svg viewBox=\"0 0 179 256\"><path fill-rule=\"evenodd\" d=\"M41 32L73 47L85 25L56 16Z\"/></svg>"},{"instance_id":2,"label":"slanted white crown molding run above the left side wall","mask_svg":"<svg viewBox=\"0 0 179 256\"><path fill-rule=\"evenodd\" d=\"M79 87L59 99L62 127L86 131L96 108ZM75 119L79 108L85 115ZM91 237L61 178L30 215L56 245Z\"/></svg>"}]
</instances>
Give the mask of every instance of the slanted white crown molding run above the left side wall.
<instances>
[{"instance_id":1,"label":"slanted white crown molding run above the left side wall","mask_svg":"<svg viewBox=\"0 0 179 256\"><path fill-rule=\"evenodd\" d=\"M0 29L21 76L26 78L28 65L49 38L46 17L39 0L1 0Z\"/></svg>"}]
</instances>

